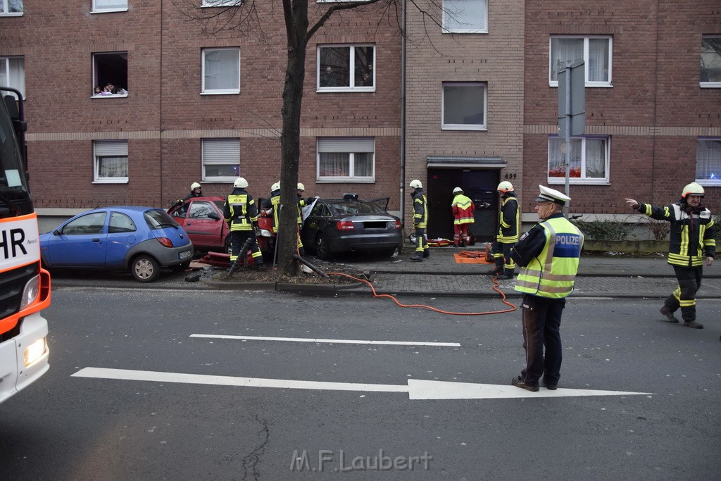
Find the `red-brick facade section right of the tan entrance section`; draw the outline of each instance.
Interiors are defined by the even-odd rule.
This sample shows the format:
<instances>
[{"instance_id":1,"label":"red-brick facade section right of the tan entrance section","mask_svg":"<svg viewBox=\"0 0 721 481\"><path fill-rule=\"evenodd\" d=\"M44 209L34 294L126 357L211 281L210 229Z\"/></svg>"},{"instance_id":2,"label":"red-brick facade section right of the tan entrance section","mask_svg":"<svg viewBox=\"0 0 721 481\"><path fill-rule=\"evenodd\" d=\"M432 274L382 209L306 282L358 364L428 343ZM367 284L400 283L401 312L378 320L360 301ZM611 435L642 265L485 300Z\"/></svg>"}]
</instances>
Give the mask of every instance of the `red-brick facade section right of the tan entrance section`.
<instances>
[{"instance_id":1,"label":"red-brick facade section right of the tan entrance section","mask_svg":"<svg viewBox=\"0 0 721 481\"><path fill-rule=\"evenodd\" d=\"M586 129L572 140L571 211L625 219L625 197L672 203L696 180L719 213L717 0L527 1L525 24L523 211L532 212L537 184L564 189L553 177L562 153L552 66L583 58Z\"/></svg>"}]
</instances>

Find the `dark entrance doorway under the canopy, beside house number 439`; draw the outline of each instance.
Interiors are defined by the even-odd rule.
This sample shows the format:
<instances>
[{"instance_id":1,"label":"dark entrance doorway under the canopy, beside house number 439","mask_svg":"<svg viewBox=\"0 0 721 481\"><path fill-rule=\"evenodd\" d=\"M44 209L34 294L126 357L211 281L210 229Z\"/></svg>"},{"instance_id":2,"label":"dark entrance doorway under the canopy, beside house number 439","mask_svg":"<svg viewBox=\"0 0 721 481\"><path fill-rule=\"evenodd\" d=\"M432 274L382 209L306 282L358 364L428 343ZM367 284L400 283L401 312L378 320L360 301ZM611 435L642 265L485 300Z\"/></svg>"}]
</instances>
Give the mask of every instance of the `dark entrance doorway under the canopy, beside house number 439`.
<instances>
[{"instance_id":1,"label":"dark entrance doorway under the canopy, beside house number 439","mask_svg":"<svg viewBox=\"0 0 721 481\"><path fill-rule=\"evenodd\" d=\"M428 239L453 239L453 190L461 187L473 200L475 222L469 234L479 242L490 242L497 229L498 170L428 169Z\"/></svg>"}]
</instances>

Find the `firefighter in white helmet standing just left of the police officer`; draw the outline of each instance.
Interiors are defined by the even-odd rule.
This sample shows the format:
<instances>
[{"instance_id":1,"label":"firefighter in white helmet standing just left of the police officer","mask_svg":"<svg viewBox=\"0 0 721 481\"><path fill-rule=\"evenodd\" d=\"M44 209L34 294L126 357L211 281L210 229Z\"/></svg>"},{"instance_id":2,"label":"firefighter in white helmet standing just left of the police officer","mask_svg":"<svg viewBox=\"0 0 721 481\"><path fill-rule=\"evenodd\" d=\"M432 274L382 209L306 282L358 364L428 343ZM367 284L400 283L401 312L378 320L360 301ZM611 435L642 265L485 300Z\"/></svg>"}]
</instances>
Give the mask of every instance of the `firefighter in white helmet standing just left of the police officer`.
<instances>
[{"instance_id":1,"label":"firefighter in white helmet standing just left of the police officer","mask_svg":"<svg viewBox=\"0 0 721 481\"><path fill-rule=\"evenodd\" d=\"M513 278L516 263L510 257L513 244L518 242L518 231L521 228L521 212L518 210L518 198L513 191L513 184L504 180L496 188L500 194L500 213L498 218L498 234L492 245L495 268L492 274L501 279Z\"/></svg>"}]
</instances>

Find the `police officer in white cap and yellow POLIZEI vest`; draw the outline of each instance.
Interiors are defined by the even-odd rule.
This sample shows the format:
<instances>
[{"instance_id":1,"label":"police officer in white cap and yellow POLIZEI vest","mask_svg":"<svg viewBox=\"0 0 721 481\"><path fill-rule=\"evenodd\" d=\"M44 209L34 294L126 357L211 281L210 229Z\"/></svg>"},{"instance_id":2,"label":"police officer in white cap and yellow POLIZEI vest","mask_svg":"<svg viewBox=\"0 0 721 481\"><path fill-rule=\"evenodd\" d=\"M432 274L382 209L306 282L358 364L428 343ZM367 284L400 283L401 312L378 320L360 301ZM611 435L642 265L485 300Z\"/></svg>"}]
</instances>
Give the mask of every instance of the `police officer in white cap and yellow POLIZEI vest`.
<instances>
[{"instance_id":1,"label":"police officer in white cap and yellow POLIZEI vest","mask_svg":"<svg viewBox=\"0 0 721 481\"><path fill-rule=\"evenodd\" d=\"M516 387L539 390L539 380L556 389L561 376L561 314L573 291L583 234L562 214L571 200L558 190L539 185L536 198L539 223L513 247L511 256L521 266L516 291L523 293L523 348L526 367L511 381ZM544 345L546 352L544 353Z\"/></svg>"}]
</instances>

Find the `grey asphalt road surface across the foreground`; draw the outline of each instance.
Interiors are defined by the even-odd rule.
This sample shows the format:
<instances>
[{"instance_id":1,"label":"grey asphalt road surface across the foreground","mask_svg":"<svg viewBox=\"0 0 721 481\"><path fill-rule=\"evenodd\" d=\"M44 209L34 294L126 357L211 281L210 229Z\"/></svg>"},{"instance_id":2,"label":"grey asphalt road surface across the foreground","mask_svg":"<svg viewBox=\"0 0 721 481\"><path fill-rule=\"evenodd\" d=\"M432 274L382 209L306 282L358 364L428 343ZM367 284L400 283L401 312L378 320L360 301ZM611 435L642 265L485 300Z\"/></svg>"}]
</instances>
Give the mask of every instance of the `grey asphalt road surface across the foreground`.
<instances>
[{"instance_id":1,"label":"grey asphalt road surface across the foreground","mask_svg":"<svg viewBox=\"0 0 721 481\"><path fill-rule=\"evenodd\" d=\"M45 312L50 371L0 406L0 479L714 479L721 327L659 322L657 304L569 301L562 396L435 389L461 398L448 400L412 398L428 392L409 379L503 393L523 363L518 312L451 316L361 295L60 288ZM699 314L719 319L720 309L709 301ZM649 394L570 395L588 389Z\"/></svg>"}]
</instances>

